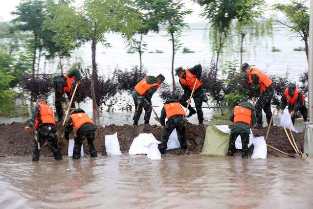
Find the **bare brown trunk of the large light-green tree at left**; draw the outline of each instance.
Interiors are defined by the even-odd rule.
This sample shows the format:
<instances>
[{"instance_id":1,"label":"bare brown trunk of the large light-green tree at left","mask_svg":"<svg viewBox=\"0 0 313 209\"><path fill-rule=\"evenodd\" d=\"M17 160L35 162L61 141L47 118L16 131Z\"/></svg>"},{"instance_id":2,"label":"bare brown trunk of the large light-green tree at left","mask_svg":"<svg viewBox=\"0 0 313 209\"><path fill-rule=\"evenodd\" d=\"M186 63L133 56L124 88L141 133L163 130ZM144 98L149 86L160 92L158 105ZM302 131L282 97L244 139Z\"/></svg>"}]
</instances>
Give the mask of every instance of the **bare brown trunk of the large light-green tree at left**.
<instances>
[{"instance_id":1,"label":"bare brown trunk of the large light-green tree at left","mask_svg":"<svg viewBox=\"0 0 313 209\"><path fill-rule=\"evenodd\" d=\"M92 61L92 75L91 75L91 98L92 98L92 121L94 125L97 123L97 104L96 104L96 93L94 90L94 82L96 80L97 64L96 64L96 43L94 37L91 43L91 61Z\"/></svg>"}]
</instances>

